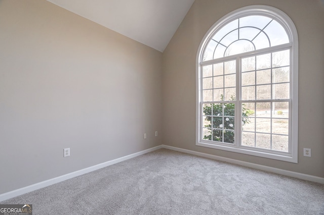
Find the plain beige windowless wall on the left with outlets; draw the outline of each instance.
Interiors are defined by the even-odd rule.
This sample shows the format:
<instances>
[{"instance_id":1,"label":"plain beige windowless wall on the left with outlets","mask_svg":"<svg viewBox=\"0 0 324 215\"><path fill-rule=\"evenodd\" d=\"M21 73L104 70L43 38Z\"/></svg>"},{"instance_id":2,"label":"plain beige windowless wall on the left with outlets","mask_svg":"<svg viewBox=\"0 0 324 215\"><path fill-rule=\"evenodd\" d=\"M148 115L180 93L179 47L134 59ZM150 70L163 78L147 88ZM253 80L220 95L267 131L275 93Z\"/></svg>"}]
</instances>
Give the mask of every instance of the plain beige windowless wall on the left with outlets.
<instances>
[{"instance_id":1,"label":"plain beige windowless wall on the left with outlets","mask_svg":"<svg viewBox=\"0 0 324 215\"><path fill-rule=\"evenodd\" d=\"M0 194L160 145L161 65L45 0L0 0Z\"/></svg>"}]
</instances>

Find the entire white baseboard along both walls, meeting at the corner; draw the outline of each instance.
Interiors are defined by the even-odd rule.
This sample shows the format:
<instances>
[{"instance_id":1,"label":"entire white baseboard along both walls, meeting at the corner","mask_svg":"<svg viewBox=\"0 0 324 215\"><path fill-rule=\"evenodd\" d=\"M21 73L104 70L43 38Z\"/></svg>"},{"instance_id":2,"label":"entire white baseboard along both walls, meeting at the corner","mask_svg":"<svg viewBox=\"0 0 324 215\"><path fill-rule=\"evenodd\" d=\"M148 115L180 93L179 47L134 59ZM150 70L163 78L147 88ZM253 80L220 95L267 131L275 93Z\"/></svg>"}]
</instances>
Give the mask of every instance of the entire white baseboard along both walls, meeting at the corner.
<instances>
[{"instance_id":1,"label":"entire white baseboard along both walls, meeting at the corner","mask_svg":"<svg viewBox=\"0 0 324 215\"><path fill-rule=\"evenodd\" d=\"M324 184L324 178L320 178L317 176L311 176L311 175L306 175L306 174L302 174L302 173L296 173L296 172L292 172L292 171L287 171L287 170L281 170L281 169L277 169L277 168L273 168L273 167L267 167L267 166L263 166L263 165L258 165L258 164L253 164L253 163L249 163L249 162L242 162L240 160L236 160L236 159L231 159L231 158L227 158L227 157L221 157L221 156L217 156L217 155L212 155L212 154L207 154L207 153L202 153L202 152L197 152L197 151L192 151L192 150L188 150L188 149L183 149L183 148L177 148L177 147L173 147L173 146L168 146L168 145L159 145L153 148L149 148L143 151L139 151L137 153L134 154L130 154L130 155L126 155L123 157L119 157L113 160L109 160L108 162L102 163L102 164L98 164L89 168L85 168L83 170L78 170L63 176L59 176L53 179L49 179L43 182L39 182L36 184L32 184L30 186L27 187L23 187L17 190L13 190L7 193L3 193L0 194L0 202L1 201L5 201L7 199L34 191L34 190L38 190L41 189L43 187L47 187L62 181L65 181L67 179L71 179L74 178L76 176L80 176L86 173L90 173L92 171L95 170L99 170L101 168L104 167L108 167L110 165L113 164L117 164L119 162L123 162L124 160L128 160L131 159L133 157L137 157L139 155L151 152L151 151L155 151L157 149L160 148L167 148L167 149L171 149L174 151L179 151L179 152L184 152L184 153L188 153L188 154L193 154L193 155L197 155L197 156L201 156L201 157L207 157L207 158L211 158L211 159L216 159L216 160L220 160L223 162L227 162L227 163L231 163L231 164L236 164L236 165L240 165L240 166L245 166L245 167L250 167L250 168L254 168L257 170L263 170L263 171L267 171L267 172L271 172L271 173L276 173L276 174L280 174L280 175L285 175L285 176L290 176L290 177L294 177L294 178L299 178L299 179L303 179L303 180L307 180L307 181L312 181L312 182L317 182L317 183L321 183Z\"/></svg>"}]
</instances>

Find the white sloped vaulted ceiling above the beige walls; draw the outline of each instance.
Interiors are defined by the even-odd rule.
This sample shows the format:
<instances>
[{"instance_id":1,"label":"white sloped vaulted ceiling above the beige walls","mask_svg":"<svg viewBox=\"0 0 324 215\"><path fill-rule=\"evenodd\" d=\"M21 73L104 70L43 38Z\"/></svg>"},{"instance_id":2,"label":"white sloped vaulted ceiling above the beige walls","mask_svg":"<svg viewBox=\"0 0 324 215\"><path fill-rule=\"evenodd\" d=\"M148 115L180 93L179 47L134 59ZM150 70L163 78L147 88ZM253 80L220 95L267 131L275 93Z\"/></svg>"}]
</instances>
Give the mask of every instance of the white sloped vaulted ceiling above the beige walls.
<instances>
[{"instance_id":1,"label":"white sloped vaulted ceiling above the beige walls","mask_svg":"<svg viewBox=\"0 0 324 215\"><path fill-rule=\"evenodd\" d=\"M194 0L47 0L161 52Z\"/></svg>"}]
</instances>

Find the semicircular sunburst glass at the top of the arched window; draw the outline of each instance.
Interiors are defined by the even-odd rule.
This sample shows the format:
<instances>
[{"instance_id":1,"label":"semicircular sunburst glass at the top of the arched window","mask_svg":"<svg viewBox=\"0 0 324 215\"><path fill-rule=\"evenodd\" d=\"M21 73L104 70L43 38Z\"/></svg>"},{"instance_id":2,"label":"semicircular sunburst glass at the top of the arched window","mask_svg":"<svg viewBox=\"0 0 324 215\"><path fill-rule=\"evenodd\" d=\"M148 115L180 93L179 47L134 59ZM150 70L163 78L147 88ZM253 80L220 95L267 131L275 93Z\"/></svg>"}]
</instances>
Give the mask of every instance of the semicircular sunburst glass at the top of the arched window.
<instances>
[{"instance_id":1,"label":"semicircular sunburst glass at the top of the arched window","mask_svg":"<svg viewBox=\"0 0 324 215\"><path fill-rule=\"evenodd\" d=\"M250 15L217 26L206 42L204 61L291 42L284 25L266 15Z\"/></svg>"}]
</instances>

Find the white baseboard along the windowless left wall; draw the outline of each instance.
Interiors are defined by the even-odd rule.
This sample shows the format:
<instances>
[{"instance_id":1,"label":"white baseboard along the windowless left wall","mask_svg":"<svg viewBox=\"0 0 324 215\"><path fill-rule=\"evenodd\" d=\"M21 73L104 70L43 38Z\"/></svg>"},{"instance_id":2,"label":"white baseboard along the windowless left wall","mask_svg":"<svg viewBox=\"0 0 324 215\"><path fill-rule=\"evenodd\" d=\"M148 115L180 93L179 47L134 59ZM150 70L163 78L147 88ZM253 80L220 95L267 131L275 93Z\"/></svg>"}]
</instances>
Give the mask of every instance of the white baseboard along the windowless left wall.
<instances>
[{"instance_id":1,"label":"white baseboard along the windowless left wall","mask_svg":"<svg viewBox=\"0 0 324 215\"><path fill-rule=\"evenodd\" d=\"M36 183L36 184L29 185L27 187L23 187L23 188L20 188L20 189L17 189L17 190L13 190L13 191L10 191L10 192L7 192L7 193L0 194L0 202L5 201L5 200L10 199L10 198L13 198L13 197L16 197L16 196L19 196L19 195L22 195L22 194L25 194L25 193L28 193L28 192L31 192L31 191L34 191L34 190L41 189L43 187L47 187L47 186L50 186L50 185L65 181L67 179L74 178L76 176L80 176L80 175L90 173L90 172L95 171L95 170L99 170L99 169L104 168L104 167L108 167L108 166L113 165L113 164L117 164L119 162L123 162L124 160L128 160L128 159L131 159L133 157L137 157L139 155L142 155L142 154L145 154L145 153L148 153L148 152L151 152L151 151L155 151L155 150L160 149L162 147L163 147L162 145L159 145L159 146L156 146L156 147L153 147L153 148L149 148L149 149L146 149L146 150L143 150L143 151L139 151L139 152L134 153L134 154L126 155L124 157L119 157L119 158L116 158L116 159L113 159L113 160L109 160L108 162L104 162L102 164L98 164L98 165L95 165L95 166L92 166L92 167L88 167L88 168L85 168L85 169L82 169L82 170L78 170L78 171L75 171L75 172L72 172L72 173L68 173L68 174L63 175L63 176L59 176L59 177L56 177L56 178L53 178L53 179L49 179L49 180L46 180L46 181L42 181L42 182L39 182L39 183Z\"/></svg>"}]
</instances>

